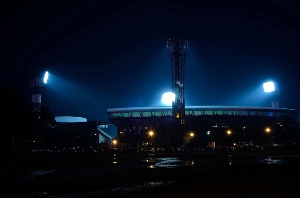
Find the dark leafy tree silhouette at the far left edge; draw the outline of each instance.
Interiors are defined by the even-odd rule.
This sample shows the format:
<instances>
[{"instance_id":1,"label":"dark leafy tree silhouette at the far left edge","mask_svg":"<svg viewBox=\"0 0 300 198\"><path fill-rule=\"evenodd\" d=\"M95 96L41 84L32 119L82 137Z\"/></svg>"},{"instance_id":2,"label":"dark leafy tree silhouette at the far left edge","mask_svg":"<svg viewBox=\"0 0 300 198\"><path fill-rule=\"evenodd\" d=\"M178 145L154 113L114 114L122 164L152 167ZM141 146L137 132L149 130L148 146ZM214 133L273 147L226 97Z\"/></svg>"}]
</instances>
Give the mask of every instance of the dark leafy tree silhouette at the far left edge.
<instances>
[{"instance_id":1,"label":"dark leafy tree silhouette at the far left edge","mask_svg":"<svg viewBox=\"0 0 300 198\"><path fill-rule=\"evenodd\" d=\"M6 103L2 108L2 121L4 123L0 141L8 146L17 142L30 142L40 138L41 133L51 129L55 125L52 113L42 107L39 113L33 112L26 98L17 94L17 91L8 86L1 85Z\"/></svg>"}]
</instances>

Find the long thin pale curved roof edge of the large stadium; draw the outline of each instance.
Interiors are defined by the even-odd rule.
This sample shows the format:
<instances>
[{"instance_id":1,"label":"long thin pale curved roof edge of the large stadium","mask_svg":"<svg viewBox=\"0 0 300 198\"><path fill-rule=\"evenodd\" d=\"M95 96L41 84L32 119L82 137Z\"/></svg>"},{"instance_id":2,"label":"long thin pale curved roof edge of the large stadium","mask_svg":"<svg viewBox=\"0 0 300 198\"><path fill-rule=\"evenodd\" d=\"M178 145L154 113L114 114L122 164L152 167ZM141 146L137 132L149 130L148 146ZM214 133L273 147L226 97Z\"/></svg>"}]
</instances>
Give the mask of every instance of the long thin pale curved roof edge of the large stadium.
<instances>
[{"instance_id":1,"label":"long thin pale curved roof edge of the large stadium","mask_svg":"<svg viewBox=\"0 0 300 198\"><path fill-rule=\"evenodd\" d=\"M160 107L127 107L107 109L107 114L128 112L159 112L172 111L171 106ZM294 109L272 108L272 107L244 107L244 106L185 106L185 111L267 111L296 113Z\"/></svg>"}]
</instances>

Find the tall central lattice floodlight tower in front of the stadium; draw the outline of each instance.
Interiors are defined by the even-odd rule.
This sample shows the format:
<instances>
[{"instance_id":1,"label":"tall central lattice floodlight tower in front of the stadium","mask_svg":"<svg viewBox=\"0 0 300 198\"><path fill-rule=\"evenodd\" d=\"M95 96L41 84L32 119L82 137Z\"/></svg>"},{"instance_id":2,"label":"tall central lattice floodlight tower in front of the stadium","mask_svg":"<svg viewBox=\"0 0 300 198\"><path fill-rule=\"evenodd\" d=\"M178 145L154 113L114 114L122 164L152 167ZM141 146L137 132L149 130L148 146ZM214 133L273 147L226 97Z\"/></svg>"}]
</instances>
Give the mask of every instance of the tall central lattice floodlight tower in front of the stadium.
<instances>
[{"instance_id":1,"label":"tall central lattice floodlight tower in front of the stadium","mask_svg":"<svg viewBox=\"0 0 300 198\"><path fill-rule=\"evenodd\" d=\"M167 38L166 54L171 61L172 92L175 94L175 100L172 102L173 123L178 123L180 120L180 125L184 126L184 75L185 57L188 56L187 39Z\"/></svg>"}]
</instances>

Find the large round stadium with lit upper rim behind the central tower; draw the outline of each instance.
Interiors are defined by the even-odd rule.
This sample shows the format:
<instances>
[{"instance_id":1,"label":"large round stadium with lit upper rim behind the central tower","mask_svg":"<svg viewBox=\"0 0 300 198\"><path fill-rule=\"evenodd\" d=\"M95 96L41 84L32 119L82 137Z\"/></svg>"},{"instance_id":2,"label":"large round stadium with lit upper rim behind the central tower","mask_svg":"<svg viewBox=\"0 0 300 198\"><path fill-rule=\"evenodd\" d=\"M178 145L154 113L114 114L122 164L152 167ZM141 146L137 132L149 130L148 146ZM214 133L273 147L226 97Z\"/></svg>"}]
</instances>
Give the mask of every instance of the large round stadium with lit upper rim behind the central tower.
<instances>
[{"instance_id":1,"label":"large round stadium with lit upper rim behind the central tower","mask_svg":"<svg viewBox=\"0 0 300 198\"><path fill-rule=\"evenodd\" d=\"M171 106L114 108L106 113L117 127L118 139L158 130L162 125L169 131L172 126ZM227 130L233 132L231 142L263 142L266 139L261 134L266 128L272 131L270 138L285 140L290 130L298 128L297 117L294 109L243 106L186 106L184 116L185 129L193 130L206 144L209 140L223 142Z\"/></svg>"}]
</instances>

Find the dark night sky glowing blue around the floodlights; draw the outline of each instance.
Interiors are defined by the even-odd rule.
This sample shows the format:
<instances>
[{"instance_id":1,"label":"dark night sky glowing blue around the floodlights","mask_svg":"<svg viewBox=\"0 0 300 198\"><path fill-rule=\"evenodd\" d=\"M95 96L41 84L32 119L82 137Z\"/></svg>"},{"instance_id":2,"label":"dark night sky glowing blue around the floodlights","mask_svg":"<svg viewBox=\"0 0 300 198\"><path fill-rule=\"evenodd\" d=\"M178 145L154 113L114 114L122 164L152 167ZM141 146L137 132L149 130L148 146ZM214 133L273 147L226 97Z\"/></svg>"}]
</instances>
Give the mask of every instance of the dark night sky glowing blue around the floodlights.
<instances>
[{"instance_id":1,"label":"dark night sky glowing blue around the floodlights","mask_svg":"<svg viewBox=\"0 0 300 198\"><path fill-rule=\"evenodd\" d=\"M190 42L186 105L270 106L262 83L272 80L280 107L300 111L296 4L10 2L1 6L1 81L30 100L30 77L49 71L42 103L55 116L106 121L107 108L161 105L169 36Z\"/></svg>"}]
</instances>

